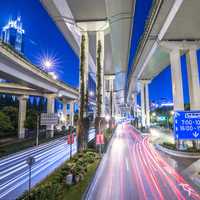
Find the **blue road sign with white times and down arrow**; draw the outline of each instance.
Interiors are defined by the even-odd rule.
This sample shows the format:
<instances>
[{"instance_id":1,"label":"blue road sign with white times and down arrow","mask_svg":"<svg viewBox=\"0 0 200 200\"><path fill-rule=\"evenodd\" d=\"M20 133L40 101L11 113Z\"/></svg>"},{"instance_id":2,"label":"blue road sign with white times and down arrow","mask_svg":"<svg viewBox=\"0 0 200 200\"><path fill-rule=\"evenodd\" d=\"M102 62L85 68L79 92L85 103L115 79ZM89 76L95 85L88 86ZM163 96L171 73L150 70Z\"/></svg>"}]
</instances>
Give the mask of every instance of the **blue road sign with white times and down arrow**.
<instances>
[{"instance_id":1,"label":"blue road sign with white times and down arrow","mask_svg":"<svg viewBox=\"0 0 200 200\"><path fill-rule=\"evenodd\" d=\"M177 111L174 113L175 139L200 139L200 111Z\"/></svg>"}]
</instances>

